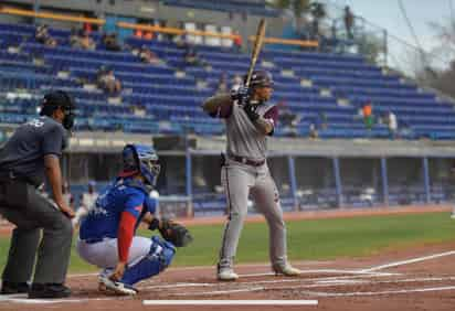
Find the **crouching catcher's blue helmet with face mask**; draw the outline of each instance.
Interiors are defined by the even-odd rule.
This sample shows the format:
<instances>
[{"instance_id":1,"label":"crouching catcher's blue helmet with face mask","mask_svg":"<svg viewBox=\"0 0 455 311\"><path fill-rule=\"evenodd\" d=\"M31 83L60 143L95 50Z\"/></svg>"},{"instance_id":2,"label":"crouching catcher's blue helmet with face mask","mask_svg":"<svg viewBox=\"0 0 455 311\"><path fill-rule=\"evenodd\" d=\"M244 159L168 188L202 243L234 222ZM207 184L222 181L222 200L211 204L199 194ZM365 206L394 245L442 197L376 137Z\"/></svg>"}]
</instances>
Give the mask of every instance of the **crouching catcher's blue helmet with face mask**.
<instances>
[{"instance_id":1,"label":"crouching catcher's blue helmet with face mask","mask_svg":"<svg viewBox=\"0 0 455 311\"><path fill-rule=\"evenodd\" d=\"M158 154L152 147L145 144L127 144L121 152L123 175L140 172L146 183L155 186L161 165L158 163Z\"/></svg>"}]
</instances>

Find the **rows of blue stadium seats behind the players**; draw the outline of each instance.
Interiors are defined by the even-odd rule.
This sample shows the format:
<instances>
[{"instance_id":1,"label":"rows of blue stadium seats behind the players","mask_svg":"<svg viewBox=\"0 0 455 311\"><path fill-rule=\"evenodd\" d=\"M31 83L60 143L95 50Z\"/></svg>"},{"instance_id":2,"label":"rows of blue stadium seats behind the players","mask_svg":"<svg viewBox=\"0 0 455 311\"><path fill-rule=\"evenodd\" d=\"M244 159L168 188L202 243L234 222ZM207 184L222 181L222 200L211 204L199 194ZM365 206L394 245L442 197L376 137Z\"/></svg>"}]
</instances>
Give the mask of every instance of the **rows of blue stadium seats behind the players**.
<instances>
[{"instance_id":1,"label":"rows of blue stadium seats behind the players","mask_svg":"<svg viewBox=\"0 0 455 311\"><path fill-rule=\"evenodd\" d=\"M129 37L124 42L128 49L109 52L100 34L93 33L97 50L84 51L70 47L66 30L50 31L59 41L56 47L36 43L34 31L28 24L0 24L0 90L67 90L81 107L76 130L221 135L222 124L207 117L200 104L214 94L222 75L230 82L243 76L248 66L248 55L225 47L197 46L205 65L187 66L184 46L170 41ZM161 64L144 64L129 51L142 45ZM124 89L116 100L89 87L102 66L113 68L121 81ZM375 124L371 130L363 125L359 109L371 100L375 117L388 111L396 115L401 138L455 139L455 111L449 103L359 55L265 50L258 68L274 75L274 101L285 103L301 116L295 133L299 137L307 137L313 124L320 138L388 138L385 125ZM33 97L2 100L0 122L20 124L35 114ZM135 114L138 106L145 114ZM279 127L276 131L277 136L287 133Z\"/></svg>"}]
</instances>

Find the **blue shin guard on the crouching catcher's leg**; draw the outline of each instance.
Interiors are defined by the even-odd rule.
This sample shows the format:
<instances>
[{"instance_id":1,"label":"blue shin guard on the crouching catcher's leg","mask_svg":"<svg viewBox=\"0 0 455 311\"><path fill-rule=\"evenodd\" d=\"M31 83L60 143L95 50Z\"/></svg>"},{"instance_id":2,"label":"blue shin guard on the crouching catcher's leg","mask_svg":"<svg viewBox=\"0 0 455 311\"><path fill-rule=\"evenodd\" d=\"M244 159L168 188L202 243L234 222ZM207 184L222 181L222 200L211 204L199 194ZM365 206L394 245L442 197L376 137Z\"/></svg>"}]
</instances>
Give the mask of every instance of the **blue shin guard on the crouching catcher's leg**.
<instances>
[{"instance_id":1,"label":"blue shin guard on the crouching catcher's leg","mask_svg":"<svg viewBox=\"0 0 455 311\"><path fill-rule=\"evenodd\" d=\"M120 280L123 283L137 283L140 280L158 275L170 265L176 254L173 245L166 240L160 240L157 236L154 236L151 240L154 243L150 246L150 251L139 262L126 269Z\"/></svg>"}]
</instances>

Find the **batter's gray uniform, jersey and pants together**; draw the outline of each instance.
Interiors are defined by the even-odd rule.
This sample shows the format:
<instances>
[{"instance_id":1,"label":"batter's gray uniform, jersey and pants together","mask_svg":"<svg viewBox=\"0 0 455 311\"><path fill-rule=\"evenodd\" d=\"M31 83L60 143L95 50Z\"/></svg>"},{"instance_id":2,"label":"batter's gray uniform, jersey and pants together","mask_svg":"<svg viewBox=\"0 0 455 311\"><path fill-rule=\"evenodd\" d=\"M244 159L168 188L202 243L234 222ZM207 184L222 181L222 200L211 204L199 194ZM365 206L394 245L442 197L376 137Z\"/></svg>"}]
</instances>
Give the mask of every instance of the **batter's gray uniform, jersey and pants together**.
<instances>
[{"instance_id":1,"label":"batter's gray uniform, jersey and pants together","mask_svg":"<svg viewBox=\"0 0 455 311\"><path fill-rule=\"evenodd\" d=\"M229 97L212 97L209 100L226 100ZM229 99L228 99L229 100ZM286 265L286 228L279 205L279 195L267 163L267 137L248 119L236 101L220 105L212 117L225 119L226 162L222 167L221 182L228 200L228 223L224 228L218 269L232 269L239 238L247 214L251 195L269 228L269 259L273 266ZM277 107L266 104L256 106L256 112L274 126ZM273 131L269 133L273 135Z\"/></svg>"}]
</instances>

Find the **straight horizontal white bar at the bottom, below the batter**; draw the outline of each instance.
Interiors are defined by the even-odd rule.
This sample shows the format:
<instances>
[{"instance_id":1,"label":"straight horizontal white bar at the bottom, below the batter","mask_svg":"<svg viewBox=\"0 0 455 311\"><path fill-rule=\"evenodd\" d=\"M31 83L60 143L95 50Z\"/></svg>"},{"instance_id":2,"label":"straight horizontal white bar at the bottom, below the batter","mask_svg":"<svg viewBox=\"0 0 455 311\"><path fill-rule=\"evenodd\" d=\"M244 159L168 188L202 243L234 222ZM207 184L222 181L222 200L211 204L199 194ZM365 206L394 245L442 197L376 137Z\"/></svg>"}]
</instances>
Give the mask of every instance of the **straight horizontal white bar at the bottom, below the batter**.
<instances>
[{"instance_id":1,"label":"straight horizontal white bar at the bottom, below the batter","mask_svg":"<svg viewBox=\"0 0 455 311\"><path fill-rule=\"evenodd\" d=\"M144 300L144 305L318 305L317 300Z\"/></svg>"}]
</instances>

